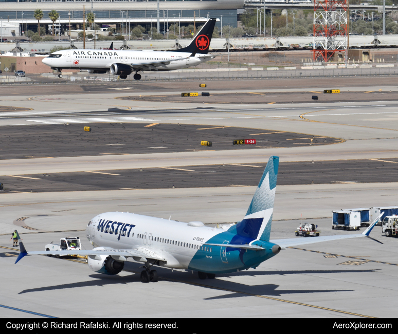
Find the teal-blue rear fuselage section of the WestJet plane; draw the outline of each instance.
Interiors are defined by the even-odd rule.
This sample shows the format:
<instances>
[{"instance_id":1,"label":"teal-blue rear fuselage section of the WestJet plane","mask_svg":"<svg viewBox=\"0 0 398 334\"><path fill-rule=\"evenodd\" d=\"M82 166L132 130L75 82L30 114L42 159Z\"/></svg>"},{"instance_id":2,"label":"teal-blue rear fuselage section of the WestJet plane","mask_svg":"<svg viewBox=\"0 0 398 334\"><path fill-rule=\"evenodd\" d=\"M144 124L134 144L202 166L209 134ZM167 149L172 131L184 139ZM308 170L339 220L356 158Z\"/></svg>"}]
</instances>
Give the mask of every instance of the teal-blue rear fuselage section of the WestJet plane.
<instances>
[{"instance_id":1,"label":"teal-blue rear fuselage section of the WestJet plane","mask_svg":"<svg viewBox=\"0 0 398 334\"><path fill-rule=\"evenodd\" d=\"M239 236L230 232L222 232L207 240L208 244L228 244L245 245L254 239ZM229 273L244 270L250 267L257 267L261 262L273 257L275 254L271 248L274 244L269 242L256 242L265 250L245 250L232 247L205 246L211 247L211 252L198 250L192 257L188 268L191 270L203 271L207 273ZM226 245L227 246L227 245ZM225 250L222 256L222 248Z\"/></svg>"}]
</instances>

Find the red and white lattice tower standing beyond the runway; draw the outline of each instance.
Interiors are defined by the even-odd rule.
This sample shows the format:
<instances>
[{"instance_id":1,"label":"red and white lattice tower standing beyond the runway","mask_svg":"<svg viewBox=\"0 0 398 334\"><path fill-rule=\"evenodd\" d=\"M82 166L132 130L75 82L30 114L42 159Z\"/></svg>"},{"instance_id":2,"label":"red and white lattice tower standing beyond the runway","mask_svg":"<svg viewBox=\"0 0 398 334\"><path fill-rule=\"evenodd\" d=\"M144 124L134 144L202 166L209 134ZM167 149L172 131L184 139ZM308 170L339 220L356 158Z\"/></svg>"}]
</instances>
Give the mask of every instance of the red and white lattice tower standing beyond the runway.
<instances>
[{"instance_id":1,"label":"red and white lattice tower standing beyond the runway","mask_svg":"<svg viewBox=\"0 0 398 334\"><path fill-rule=\"evenodd\" d=\"M348 45L347 0L314 0L314 61L329 61Z\"/></svg>"}]
</instances>

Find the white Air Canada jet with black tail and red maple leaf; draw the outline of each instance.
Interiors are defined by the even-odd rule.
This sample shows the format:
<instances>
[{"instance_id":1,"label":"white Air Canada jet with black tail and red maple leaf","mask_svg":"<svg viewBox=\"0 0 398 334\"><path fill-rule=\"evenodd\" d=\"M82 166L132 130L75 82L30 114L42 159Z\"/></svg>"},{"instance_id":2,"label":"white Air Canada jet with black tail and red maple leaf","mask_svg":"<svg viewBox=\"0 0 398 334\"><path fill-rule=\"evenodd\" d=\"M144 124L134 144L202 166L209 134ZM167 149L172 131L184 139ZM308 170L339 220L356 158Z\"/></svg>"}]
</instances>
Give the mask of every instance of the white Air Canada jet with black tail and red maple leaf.
<instances>
[{"instance_id":1,"label":"white Air Canada jet with black tail and red maple leaf","mask_svg":"<svg viewBox=\"0 0 398 334\"><path fill-rule=\"evenodd\" d=\"M135 72L134 79L140 80L138 72L171 71L213 59L215 55L207 52L216 20L210 18L187 47L175 51L71 49L53 52L42 62L58 70L60 78L63 69L84 69L95 74L111 72L120 79Z\"/></svg>"}]
</instances>

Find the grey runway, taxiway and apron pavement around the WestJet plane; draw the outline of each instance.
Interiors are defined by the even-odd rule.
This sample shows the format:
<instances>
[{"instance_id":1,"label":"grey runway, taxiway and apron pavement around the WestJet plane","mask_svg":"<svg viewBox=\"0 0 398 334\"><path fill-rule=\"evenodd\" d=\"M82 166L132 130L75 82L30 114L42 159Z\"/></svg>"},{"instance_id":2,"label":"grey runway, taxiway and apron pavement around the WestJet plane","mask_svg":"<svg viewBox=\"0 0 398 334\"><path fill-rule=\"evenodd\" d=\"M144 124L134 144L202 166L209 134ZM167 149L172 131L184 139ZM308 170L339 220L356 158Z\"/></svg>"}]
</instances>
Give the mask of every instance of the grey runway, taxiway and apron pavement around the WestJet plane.
<instances>
[{"instance_id":1,"label":"grey runway, taxiway and apron pavement around the WestJet plane","mask_svg":"<svg viewBox=\"0 0 398 334\"><path fill-rule=\"evenodd\" d=\"M256 270L221 275L211 282L198 281L189 271L160 268L157 285L139 283L139 264L132 261L120 275L104 277L80 262L44 256L27 256L14 265L17 250L4 247L11 245L10 233L17 228L29 250L42 249L68 235L80 236L88 249L91 246L84 241L87 222L107 211L201 220L212 226L236 222L245 215L270 155L280 156L272 238L294 237L301 216L317 224L322 235L347 233L331 229L332 210L397 205L395 79L329 78L328 84L341 88L341 96L350 96L350 90L367 97L350 98L351 102L295 101L294 92L331 88L315 79L253 80L250 84L220 80L209 85L220 94L238 94L238 98L257 92L268 99L275 93L286 97L280 102L289 102L273 104L262 101L259 94L252 94L259 95L256 104L240 103L244 100L227 104L143 101L153 95L170 99L182 88L197 87L195 81L142 87L32 85L26 91L19 86L15 94L9 90L12 87L2 86L0 105L14 110L0 112L0 175L6 180L6 190L11 185L12 191L21 191L0 194L0 233L5 234L0 236L2 304L56 317L394 317L397 239L383 236L379 227L372 236L383 244L357 238L288 249ZM340 81L341 86L336 87ZM94 89L91 87L97 92L88 91ZM104 94L108 90L112 92ZM133 100L120 99L125 96ZM153 123L159 123L158 127L144 127ZM84 125L92 126L93 132L80 132ZM169 149L173 143L169 138L177 137L172 129L177 127L184 128L184 140L195 151L183 151L179 142L171 152L148 149ZM211 127L220 129L196 130ZM273 147L231 149L230 136L235 134L229 132L231 128L242 135L274 132L254 136L261 140L273 136L275 142L293 144L275 147L264 142ZM159 131L160 136L144 136L146 130ZM196 150L202 131L215 136L218 149L213 144ZM87 138L83 136L94 140L82 140ZM333 144L316 144L319 137ZM137 138L150 144L134 152ZM287 140L294 138L300 139ZM307 144L294 144L299 140ZM105 145L115 143L125 145ZM29 148L47 158L23 156L23 150ZM208 149L211 151L205 151ZM25 193L30 189L34 192ZM335 257L329 256L333 254ZM78 306L59 303L71 293L80 296ZM132 302L142 300L146 303ZM93 307L104 304L112 307ZM7 310L3 316L25 314Z\"/></svg>"}]
</instances>

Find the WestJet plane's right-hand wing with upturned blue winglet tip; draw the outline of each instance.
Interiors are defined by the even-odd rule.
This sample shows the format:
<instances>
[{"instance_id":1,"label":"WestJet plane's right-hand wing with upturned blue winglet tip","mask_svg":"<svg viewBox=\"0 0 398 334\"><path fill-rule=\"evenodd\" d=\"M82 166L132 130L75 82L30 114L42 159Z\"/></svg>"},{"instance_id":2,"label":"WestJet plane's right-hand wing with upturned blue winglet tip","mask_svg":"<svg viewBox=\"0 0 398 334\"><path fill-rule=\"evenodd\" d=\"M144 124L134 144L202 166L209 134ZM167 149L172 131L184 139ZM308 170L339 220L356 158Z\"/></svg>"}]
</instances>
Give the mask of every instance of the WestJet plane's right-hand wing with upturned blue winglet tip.
<instances>
[{"instance_id":1,"label":"WestJet plane's right-hand wing with upturned blue winglet tip","mask_svg":"<svg viewBox=\"0 0 398 334\"><path fill-rule=\"evenodd\" d=\"M343 235L327 235L327 236L308 236L308 237L296 237L293 239L273 239L269 240L273 244L279 245L282 249L286 247L292 246L301 246L307 244L315 244L315 243L322 243L325 241L332 241L332 240L341 240L341 239L350 239L350 238L360 238L360 237L369 237L370 232L372 231L373 227L377 224L379 218L382 217L384 212L379 215L372 224L363 232L358 234L343 234ZM371 238L373 239L373 238ZM376 240L378 241L378 240Z\"/></svg>"}]
</instances>

